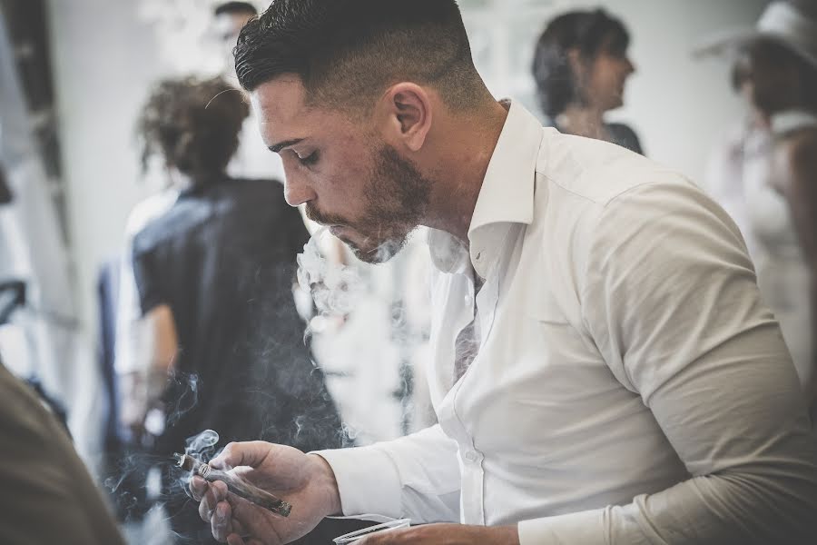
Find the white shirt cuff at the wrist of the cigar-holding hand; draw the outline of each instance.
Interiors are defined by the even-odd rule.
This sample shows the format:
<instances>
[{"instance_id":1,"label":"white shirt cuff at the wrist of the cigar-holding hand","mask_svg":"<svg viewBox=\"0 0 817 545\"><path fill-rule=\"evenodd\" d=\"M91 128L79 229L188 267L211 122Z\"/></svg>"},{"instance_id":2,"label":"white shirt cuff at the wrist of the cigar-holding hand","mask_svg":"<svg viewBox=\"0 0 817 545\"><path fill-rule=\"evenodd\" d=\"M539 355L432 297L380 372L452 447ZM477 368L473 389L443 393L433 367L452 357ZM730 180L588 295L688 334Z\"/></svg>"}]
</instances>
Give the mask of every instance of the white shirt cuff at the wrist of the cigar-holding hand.
<instances>
[{"instance_id":1,"label":"white shirt cuff at the wrist of the cigar-holding hand","mask_svg":"<svg viewBox=\"0 0 817 545\"><path fill-rule=\"evenodd\" d=\"M330 464L347 517L378 513L398 519L402 512L400 476L389 454L377 445L315 451Z\"/></svg>"}]
</instances>

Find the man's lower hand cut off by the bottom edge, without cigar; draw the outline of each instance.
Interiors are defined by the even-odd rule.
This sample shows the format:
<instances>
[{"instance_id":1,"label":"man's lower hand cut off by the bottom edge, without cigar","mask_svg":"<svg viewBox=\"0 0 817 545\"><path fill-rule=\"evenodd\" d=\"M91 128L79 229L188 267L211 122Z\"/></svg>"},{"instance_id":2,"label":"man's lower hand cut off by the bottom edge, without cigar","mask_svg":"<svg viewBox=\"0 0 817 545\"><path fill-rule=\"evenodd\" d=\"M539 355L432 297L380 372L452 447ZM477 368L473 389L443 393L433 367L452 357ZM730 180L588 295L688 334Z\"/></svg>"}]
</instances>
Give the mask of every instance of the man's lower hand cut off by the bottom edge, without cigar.
<instances>
[{"instance_id":1,"label":"man's lower hand cut off by the bottom edge, without cigar","mask_svg":"<svg viewBox=\"0 0 817 545\"><path fill-rule=\"evenodd\" d=\"M516 526L428 524L371 535L356 545L519 545Z\"/></svg>"}]
</instances>

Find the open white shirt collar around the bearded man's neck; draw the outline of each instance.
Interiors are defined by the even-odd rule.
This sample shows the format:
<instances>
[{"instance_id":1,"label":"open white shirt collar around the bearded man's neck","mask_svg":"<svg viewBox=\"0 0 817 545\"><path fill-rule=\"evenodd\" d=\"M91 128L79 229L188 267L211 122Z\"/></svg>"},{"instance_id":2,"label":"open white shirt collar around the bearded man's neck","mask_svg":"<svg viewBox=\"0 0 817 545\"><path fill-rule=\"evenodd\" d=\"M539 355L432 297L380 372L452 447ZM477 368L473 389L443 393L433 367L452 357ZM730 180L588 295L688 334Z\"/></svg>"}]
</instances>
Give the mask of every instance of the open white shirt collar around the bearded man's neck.
<instances>
[{"instance_id":1,"label":"open white shirt collar around the bearded man's neck","mask_svg":"<svg viewBox=\"0 0 817 545\"><path fill-rule=\"evenodd\" d=\"M505 230L494 227L533 221L536 161L542 144L542 125L520 104L510 104L497 147L488 163L477 206L468 227L470 255L449 233L431 229L431 260L442 272L462 272L468 258L482 278L497 261Z\"/></svg>"}]
</instances>

